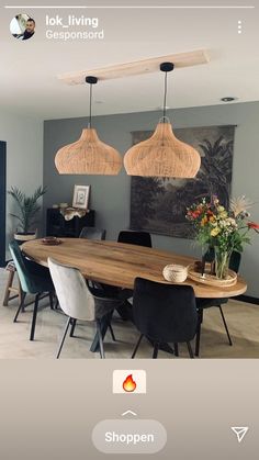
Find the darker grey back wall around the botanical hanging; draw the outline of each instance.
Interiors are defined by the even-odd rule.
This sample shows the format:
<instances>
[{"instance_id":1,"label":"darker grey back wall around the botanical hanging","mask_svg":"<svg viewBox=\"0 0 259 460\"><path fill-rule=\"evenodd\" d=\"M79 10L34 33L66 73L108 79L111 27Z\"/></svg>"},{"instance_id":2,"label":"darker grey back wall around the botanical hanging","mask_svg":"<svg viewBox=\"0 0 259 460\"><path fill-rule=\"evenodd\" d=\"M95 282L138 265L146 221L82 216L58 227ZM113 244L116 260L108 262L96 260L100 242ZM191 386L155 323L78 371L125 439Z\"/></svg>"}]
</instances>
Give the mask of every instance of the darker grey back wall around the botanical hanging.
<instances>
[{"instance_id":1,"label":"darker grey back wall around the botanical hanging","mask_svg":"<svg viewBox=\"0 0 259 460\"><path fill-rule=\"evenodd\" d=\"M153 130L158 112L142 112L94 117L94 126L105 143L122 154L131 146L132 131ZM259 222L259 102L234 103L169 111L174 127L236 124L233 195L246 194L255 202L252 220ZM106 228L108 239L116 239L119 229L130 225L131 178L123 169L117 177L59 176L54 165L58 148L79 138L86 119L50 120L44 124L44 184L49 192L44 206L71 202L74 184L90 184L90 206L97 211L97 225ZM259 298L259 235L245 248L240 271L248 280L248 294ZM179 254L196 255L200 248L185 239L154 235L154 246Z\"/></svg>"}]
</instances>

